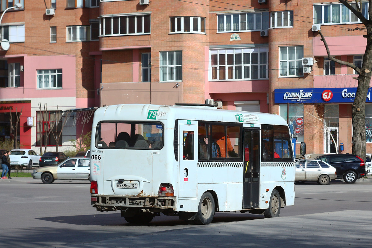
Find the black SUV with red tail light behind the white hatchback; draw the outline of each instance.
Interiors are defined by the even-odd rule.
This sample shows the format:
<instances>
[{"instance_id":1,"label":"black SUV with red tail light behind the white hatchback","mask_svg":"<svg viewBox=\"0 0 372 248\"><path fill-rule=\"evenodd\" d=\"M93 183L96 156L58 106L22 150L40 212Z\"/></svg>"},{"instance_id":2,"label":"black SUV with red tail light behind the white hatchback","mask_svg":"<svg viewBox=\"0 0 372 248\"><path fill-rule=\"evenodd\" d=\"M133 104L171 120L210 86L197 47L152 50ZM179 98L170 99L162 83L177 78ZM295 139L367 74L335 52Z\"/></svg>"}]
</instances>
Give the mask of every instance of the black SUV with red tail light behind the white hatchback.
<instances>
[{"instance_id":1,"label":"black SUV with red tail light behind the white hatchback","mask_svg":"<svg viewBox=\"0 0 372 248\"><path fill-rule=\"evenodd\" d=\"M359 178L366 175L364 161L353 154L326 154L316 157L336 168L337 179L343 179L346 183L355 183Z\"/></svg>"}]
</instances>

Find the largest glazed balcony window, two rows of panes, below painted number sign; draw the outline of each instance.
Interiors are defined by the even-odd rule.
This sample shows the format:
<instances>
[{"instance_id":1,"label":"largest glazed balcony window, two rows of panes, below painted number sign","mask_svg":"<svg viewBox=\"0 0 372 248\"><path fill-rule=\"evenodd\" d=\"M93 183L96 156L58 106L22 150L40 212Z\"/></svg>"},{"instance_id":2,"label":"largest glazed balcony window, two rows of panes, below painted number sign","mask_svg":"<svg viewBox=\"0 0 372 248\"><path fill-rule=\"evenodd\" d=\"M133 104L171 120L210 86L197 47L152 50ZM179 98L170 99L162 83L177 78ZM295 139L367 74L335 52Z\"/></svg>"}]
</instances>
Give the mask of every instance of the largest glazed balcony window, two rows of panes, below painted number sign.
<instances>
[{"instance_id":1,"label":"largest glazed balcony window, two rows of panes, below painted number sign","mask_svg":"<svg viewBox=\"0 0 372 248\"><path fill-rule=\"evenodd\" d=\"M268 48L211 49L210 80L267 79Z\"/></svg>"}]
</instances>

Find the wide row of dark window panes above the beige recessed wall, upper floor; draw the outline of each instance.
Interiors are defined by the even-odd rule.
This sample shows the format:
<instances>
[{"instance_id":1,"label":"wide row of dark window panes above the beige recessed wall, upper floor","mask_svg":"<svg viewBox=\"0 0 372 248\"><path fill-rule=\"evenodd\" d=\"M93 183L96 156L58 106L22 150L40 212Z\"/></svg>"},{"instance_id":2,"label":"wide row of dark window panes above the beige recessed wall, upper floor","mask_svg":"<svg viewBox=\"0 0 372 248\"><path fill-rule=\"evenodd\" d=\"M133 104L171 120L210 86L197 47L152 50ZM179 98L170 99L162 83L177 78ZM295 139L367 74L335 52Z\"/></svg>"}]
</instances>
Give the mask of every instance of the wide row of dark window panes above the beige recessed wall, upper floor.
<instances>
[{"instance_id":1,"label":"wide row of dark window panes above the beige recessed wall, upper floor","mask_svg":"<svg viewBox=\"0 0 372 248\"><path fill-rule=\"evenodd\" d=\"M102 36L147 35L151 30L150 15L110 16L100 19Z\"/></svg>"}]
</instances>

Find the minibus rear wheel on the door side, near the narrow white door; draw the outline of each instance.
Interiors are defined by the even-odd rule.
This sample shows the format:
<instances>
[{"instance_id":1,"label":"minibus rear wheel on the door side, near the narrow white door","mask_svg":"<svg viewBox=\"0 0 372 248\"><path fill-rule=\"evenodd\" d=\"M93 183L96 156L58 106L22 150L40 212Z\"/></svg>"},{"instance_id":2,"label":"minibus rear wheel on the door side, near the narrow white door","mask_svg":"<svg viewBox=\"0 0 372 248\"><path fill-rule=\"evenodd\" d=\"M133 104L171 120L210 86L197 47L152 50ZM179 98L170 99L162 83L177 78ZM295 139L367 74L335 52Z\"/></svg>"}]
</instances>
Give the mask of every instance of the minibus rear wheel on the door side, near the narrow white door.
<instances>
[{"instance_id":1,"label":"minibus rear wheel on the door side, near the narrow white door","mask_svg":"<svg viewBox=\"0 0 372 248\"><path fill-rule=\"evenodd\" d=\"M208 225L212 222L214 213L214 198L211 193L206 192L200 199L194 222L199 225Z\"/></svg>"}]
</instances>

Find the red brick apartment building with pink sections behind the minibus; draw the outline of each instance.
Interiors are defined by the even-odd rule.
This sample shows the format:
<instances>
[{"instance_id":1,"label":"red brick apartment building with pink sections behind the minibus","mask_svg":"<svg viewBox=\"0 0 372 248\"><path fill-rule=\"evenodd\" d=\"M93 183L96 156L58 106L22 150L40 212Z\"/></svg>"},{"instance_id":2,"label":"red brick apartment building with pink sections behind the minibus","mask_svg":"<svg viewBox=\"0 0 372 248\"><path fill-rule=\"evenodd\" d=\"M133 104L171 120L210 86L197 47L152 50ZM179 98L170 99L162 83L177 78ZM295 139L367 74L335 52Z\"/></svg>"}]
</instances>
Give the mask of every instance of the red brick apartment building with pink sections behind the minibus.
<instances>
[{"instance_id":1,"label":"red brick apartment building with pink sections behind the minibus","mask_svg":"<svg viewBox=\"0 0 372 248\"><path fill-rule=\"evenodd\" d=\"M282 116L296 142L307 142L308 153L341 152L340 143L351 152L356 75L327 59L317 30L332 55L358 66L366 32L337 1L20 3L24 7L7 10L1 21L10 47L0 51L0 98L3 104L30 102L33 125L18 135L27 140L24 146L37 145L39 103L52 111L213 101L224 109ZM365 16L367 6L363 1ZM369 152L372 104L366 101ZM6 112L0 112L5 127ZM67 130L63 148L81 127Z\"/></svg>"}]
</instances>

